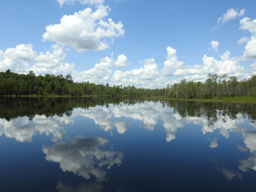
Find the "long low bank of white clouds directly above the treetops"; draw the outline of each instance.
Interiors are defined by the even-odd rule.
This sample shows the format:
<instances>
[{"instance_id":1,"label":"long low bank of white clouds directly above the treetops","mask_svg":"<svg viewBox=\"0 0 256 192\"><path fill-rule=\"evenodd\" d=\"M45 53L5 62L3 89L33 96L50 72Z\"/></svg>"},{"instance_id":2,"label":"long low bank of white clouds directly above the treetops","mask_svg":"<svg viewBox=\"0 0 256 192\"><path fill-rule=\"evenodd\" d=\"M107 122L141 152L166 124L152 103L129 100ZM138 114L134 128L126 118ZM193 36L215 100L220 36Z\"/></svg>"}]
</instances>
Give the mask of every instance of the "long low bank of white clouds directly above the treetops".
<instances>
[{"instance_id":1,"label":"long low bank of white clouds directly above the treetops","mask_svg":"<svg viewBox=\"0 0 256 192\"><path fill-rule=\"evenodd\" d=\"M187 80L206 80L208 73L228 74L239 78L247 78L249 75L243 73L244 67L239 65L239 58L230 58L230 52L227 50L221 59L203 55L203 64L186 66L183 61L178 61L176 50L167 47L167 59L163 69L158 69L154 58L141 61L138 69L128 71L116 70L113 72L113 66L124 66L128 64L125 55L118 55L117 61L113 57L105 57L99 60L93 68L85 71L76 71L74 64L65 61L66 53L64 48L59 45L52 45L52 51L39 53L33 50L33 46L17 45L15 48L9 48L5 52L0 50L0 70L10 69L13 72L28 73L30 70L35 74L71 74L77 82L94 82L102 84L110 82L111 85L135 85L140 88L162 88L173 83L168 80L169 76L179 76L178 79ZM255 69L255 64L251 65ZM163 75L164 74L164 75Z\"/></svg>"}]
</instances>

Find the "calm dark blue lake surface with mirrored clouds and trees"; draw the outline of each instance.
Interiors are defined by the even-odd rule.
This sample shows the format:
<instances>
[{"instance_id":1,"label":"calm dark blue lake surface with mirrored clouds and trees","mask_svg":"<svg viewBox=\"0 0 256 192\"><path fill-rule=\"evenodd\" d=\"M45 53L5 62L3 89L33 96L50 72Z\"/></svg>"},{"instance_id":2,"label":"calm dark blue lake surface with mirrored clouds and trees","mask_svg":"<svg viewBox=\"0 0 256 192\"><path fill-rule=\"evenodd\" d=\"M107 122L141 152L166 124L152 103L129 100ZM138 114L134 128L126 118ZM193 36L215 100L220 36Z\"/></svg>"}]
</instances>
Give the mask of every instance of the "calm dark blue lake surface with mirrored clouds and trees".
<instances>
[{"instance_id":1,"label":"calm dark blue lake surface with mirrored clouds and trees","mask_svg":"<svg viewBox=\"0 0 256 192\"><path fill-rule=\"evenodd\" d=\"M0 191L256 191L256 105L0 99Z\"/></svg>"}]
</instances>

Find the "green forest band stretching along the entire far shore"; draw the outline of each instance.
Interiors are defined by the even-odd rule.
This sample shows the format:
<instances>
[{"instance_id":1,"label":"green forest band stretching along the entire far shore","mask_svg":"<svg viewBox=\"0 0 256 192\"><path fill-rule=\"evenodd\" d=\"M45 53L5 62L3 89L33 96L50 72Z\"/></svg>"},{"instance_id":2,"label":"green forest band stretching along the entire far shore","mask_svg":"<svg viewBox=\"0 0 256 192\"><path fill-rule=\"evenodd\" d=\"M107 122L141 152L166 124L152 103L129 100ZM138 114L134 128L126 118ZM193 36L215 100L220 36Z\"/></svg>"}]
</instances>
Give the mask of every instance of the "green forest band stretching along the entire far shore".
<instances>
[{"instance_id":1,"label":"green forest band stretching along the entire far shore","mask_svg":"<svg viewBox=\"0 0 256 192\"><path fill-rule=\"evenodd\" d=\"M222 99L222 97L256 96L256 76L247 80L228 77L227 74L208 74L205 82L181 80L166 88L135 88L108 83L96 85L93 82L74 82L67 74L45 74L34 72L18 74L0 72L0 96L129 96L167 97L173 99Z\"/></svg>"}]
</instances>

